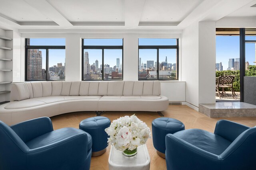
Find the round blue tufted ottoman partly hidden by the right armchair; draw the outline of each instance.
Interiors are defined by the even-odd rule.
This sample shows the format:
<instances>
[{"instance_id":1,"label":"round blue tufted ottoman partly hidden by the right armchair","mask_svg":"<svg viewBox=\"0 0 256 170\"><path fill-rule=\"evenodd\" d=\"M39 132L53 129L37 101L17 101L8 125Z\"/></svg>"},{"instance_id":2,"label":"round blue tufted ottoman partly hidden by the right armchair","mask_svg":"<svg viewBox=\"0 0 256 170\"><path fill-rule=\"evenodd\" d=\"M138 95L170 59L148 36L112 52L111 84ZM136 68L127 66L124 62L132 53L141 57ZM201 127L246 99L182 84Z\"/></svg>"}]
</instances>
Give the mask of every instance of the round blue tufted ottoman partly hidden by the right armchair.
<instances>
[{"instance_id":1,"label":"round blue tufted ottoman partly hidden by the right armchair","mask_svg":"<svg viewBox=\"0 0 256 170\"><path fill-rule=\"evenodd\" d=\"M152 121L153 145L156 152L165 158L165 136L185 129L184 124L177 119L160 117Z\"/></svg>"}]
</instances>

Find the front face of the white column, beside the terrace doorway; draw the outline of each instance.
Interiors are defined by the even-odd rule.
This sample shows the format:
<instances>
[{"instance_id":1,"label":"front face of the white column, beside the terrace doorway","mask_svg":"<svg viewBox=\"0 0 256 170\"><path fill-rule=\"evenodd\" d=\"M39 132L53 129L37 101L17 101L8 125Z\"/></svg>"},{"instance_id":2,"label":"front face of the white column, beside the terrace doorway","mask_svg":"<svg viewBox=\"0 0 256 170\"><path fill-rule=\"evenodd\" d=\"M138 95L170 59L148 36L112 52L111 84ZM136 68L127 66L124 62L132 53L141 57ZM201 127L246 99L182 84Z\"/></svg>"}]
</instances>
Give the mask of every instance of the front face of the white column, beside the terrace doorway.
<instances>
[{"instance_id":1,"label":"front face of the white column, beside the terrace doorway","mask_svg":"<svg viewBox=\"0 0 256 170\"><path fill-rule=\"evenodd\" d=\"M199 104L214 104L216 77L216 22L199 22Z\"/></svg>"}]
</instances>

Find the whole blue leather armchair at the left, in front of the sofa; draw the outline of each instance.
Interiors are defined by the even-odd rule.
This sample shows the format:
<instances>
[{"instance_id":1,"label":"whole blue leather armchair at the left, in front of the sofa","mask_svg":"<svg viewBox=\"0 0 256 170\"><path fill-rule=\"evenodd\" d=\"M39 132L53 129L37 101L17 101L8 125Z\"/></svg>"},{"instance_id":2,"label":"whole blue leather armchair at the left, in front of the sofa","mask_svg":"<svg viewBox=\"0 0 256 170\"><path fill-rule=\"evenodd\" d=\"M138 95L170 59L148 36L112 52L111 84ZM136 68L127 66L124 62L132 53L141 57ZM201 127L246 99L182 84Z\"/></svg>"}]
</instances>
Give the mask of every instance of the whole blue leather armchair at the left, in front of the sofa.
<instances>
[{"instance_id":1,"label":"whole blue leather armchair at the left, in front of the sofa","mask_svg":"<svg viewBox=\"0 0 256 170\"><path fill-rule=\"evenodd\" d=\"M92 137L76 128L53 130L49 117L9 127L0 121L1 170L89 170Z\"/></svg>"}]
</instances>

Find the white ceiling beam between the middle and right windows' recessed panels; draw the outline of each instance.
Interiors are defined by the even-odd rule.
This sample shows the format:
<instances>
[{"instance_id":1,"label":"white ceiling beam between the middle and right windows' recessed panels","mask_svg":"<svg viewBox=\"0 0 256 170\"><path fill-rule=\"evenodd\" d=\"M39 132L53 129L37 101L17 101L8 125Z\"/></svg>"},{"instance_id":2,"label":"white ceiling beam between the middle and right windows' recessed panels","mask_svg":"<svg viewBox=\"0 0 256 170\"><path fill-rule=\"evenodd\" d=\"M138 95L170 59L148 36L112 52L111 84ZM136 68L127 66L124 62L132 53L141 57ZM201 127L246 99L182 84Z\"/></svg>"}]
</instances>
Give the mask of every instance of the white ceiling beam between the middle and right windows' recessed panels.
<instances>
[{"instance_id":1,"label":"white ceiling beam between the middle and right windows' recessed panels","mask_svg":"<svg viewBox=\"0 0 256 170\"><path fill-rule=\"evenodd\" d=\"M125 27L134 28L138 27L140 22L140 17L143 12L145 0L125 0Z\"/></svg>"}]
</instances>

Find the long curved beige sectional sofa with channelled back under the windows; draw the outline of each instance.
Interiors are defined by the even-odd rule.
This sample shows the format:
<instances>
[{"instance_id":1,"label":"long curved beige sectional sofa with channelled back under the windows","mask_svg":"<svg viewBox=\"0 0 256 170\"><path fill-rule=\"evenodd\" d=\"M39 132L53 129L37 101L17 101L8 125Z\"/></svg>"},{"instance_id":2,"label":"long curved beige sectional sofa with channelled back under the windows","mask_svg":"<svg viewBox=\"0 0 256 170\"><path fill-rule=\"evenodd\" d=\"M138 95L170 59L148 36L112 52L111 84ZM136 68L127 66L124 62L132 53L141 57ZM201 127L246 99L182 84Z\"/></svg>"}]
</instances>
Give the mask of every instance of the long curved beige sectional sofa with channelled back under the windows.
<instances>
[{"instance_id":1,"label":"long curved beige sectional sofa with channelled back under the windows","mask_svg":"<svg viewBox=\"0 0 256 170\"><path fill-rule=\"evenodd\" d=\"M8 125L74 111L164 111L159 81L52 81L14 83L11 102L0 106Z\"/></svg>"}]
</instances>

